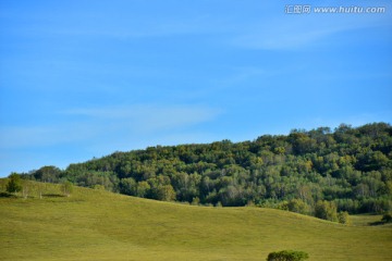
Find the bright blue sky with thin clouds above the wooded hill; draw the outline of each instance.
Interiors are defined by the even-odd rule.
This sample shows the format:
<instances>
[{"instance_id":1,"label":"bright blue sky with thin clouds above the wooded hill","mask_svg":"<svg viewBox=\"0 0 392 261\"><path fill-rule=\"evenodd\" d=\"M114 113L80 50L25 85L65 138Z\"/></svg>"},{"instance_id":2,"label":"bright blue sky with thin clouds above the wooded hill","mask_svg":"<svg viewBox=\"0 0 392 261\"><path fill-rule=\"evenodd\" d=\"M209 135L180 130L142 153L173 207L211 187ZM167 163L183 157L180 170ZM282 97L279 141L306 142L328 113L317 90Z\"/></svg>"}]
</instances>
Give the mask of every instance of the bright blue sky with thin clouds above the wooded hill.
<instances>
[{"instance_id":1,"label":"bright blue sky with thin clouds above the wooded hill","mask_svg":"<svg viewBox=\"0 0 392 261\"><path fill-rule=\"evenodd\" d=\"M387 11L284 12L309 2ZM390 1L0 1L0 176L381 121Z\"/></svg>"}]
</instances>

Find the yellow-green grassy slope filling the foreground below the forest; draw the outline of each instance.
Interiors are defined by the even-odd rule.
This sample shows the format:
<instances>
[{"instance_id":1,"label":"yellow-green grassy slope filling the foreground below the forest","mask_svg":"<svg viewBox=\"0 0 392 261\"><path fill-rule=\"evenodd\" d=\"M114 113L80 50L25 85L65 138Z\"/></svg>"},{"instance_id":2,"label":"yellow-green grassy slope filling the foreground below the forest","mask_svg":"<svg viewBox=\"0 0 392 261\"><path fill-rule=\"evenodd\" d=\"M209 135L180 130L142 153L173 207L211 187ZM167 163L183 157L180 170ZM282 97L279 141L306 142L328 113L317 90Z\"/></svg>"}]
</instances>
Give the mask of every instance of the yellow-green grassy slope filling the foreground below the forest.
<instances>
[{"instance_id":1,"label":"yellow-green grassy slope filling the foreground below the forest","mask_svg":"<svg viewBox=\"0 0 392 261\"><path fill-rule=\"evenodd\" d=\"M344 226L272 209L193 207L87 188L60 197L58 185L40 186L42 199L37 189L28 199L0 198L0 260L266 260L282 249L306 251L309 260L392 257L391 226ZM360 220L356 224L365 224Z\"/></svg>"}]
</instances>

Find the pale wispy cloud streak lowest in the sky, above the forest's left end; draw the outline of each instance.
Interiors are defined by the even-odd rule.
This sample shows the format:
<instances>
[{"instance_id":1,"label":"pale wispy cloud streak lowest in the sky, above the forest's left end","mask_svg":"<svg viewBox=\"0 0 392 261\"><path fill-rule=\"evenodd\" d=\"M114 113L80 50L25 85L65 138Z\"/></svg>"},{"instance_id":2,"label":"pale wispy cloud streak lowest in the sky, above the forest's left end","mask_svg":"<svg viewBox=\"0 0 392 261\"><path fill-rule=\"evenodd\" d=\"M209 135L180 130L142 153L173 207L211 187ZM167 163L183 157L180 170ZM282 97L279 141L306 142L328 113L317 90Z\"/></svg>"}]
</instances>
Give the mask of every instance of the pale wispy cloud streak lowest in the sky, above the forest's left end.
<instances>
[{"instance_id":1,"label":"pale wispy cloud streak lowest in the sky, above the forest's left end","mask_svg":"<svg viewBox=\"0 0 392 261\"><path fill-rule=\"evenodd\" d=\"M213 121L222 113L203 105L138 104L117 108L77 108L58 112L60 123L44 126L2 126L0 148L47 147L60 144L119 144L128 136L146 137L182 132Z\"/></svg>"}]
</instances>

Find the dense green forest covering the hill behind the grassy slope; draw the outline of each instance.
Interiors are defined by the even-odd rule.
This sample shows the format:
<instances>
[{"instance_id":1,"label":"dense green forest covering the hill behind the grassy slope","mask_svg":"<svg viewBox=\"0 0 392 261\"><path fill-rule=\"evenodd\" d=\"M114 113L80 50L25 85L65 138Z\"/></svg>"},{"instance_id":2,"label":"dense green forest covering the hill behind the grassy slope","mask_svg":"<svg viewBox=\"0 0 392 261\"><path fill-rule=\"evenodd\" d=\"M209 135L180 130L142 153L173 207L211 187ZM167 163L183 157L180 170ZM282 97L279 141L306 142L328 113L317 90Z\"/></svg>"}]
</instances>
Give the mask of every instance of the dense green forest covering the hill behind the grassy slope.
<instances>
[{"instance_id":1,"label":"dense green forest covering the hill behind the grassy slope","mask_svg":"<svg viewBox=\"0 0 392 261\"><path fill-rule=\"evenodd\" d=\"M199 206L257 206L328 220L392 209L392 126L293 129L253 141L156 146L19 173L24 179ZM343 216L344 217L344 216Z\"/></svg>"}]
</instances>

